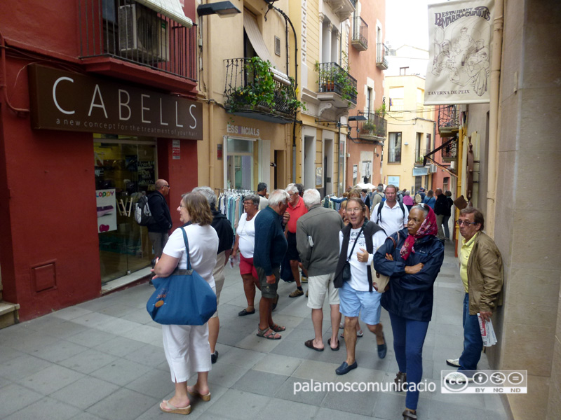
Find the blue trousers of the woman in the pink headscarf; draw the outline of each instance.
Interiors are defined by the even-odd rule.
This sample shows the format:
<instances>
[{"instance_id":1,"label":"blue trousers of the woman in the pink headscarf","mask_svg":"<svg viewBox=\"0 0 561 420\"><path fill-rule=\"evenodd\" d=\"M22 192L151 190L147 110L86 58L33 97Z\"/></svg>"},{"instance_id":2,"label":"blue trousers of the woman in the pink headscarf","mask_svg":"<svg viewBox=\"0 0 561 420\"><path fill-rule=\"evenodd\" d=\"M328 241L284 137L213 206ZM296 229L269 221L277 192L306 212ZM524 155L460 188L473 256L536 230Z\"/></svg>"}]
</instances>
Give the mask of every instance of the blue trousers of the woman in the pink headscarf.
<instances>
[{"instance_id":1,"label":"blue trousers of the woman in the pink headscarf","mask_svg":"<svg viewBox=\"0 0 561 420\"><path fill-rule=\"evenodd\" d=\"M400 372L407 373L407 384L419 384L423 376L423 344L425 342L428 321L413 321L390 312L393 330L393 351ZM417 409L419 391L407 390L405 407Z\"/></svg>"}]
</instances>

